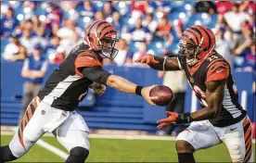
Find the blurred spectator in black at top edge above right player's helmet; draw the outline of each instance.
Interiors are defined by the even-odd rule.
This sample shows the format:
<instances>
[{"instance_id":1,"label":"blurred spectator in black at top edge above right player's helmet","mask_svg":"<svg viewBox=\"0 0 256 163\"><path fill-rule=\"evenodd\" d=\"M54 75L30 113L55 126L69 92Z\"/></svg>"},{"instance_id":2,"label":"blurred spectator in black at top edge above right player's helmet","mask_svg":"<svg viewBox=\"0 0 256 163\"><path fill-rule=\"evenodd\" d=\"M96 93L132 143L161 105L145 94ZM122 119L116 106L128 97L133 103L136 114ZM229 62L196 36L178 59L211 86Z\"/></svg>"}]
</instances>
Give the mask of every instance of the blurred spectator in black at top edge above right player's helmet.
<instances>
[{"instance_id":1,"label":"blurred spectator in black at top edge above right player's helmet","mask_svg":"<svg viewBox=\"0 0 256 163\"><path fill-rule=\"evenodd\" d=\"M217 13L216 6L211 1L198 1L196 6L194 6L194 11L195 12L206 12L209 14Z\"/></svg>"}]
</instances>

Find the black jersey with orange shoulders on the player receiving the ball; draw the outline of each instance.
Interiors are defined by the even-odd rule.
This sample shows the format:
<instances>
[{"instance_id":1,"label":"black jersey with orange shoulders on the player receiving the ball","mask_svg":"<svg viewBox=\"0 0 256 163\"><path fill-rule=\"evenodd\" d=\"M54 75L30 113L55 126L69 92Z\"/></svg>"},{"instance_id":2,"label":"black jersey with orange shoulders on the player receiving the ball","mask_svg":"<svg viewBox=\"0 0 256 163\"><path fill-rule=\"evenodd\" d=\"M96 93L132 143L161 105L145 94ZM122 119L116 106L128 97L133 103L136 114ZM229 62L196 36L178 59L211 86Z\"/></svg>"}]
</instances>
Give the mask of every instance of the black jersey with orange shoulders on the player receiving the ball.
<instances>
[{"instance_id":1,"label":"black jersey with orange shoulders on the player receiving the ball","mask_svg":"<svg viewBox=\"0 0 256 163\"><path fill-rule=\"evenodd\" d=\"M238 102L237 86L232 77L230 66L223 56L214 51L211 56L208 56L206 60L199 62L193 68L189 68L179 58L178 62L181 69L185 70L186 79L198 97L201 107L207 107L205 82L227 80L220 114L217 118L210 119L213 126L229 126L246 116L247 111Z\"/></svg>"}]
</instances>

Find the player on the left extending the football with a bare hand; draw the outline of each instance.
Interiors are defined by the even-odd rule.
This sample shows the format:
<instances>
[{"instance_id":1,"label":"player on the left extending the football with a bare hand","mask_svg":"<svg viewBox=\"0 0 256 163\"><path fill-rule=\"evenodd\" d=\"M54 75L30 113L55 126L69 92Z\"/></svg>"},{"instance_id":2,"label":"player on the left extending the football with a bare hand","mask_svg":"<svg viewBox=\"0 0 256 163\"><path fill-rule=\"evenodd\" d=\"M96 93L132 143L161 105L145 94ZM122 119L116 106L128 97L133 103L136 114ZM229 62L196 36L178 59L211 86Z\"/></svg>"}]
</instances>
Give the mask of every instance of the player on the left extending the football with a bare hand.
<instances>
[{"instance_id":1,"label":"player on the left extending the football with a bare hand","mask_svg":"<svg viewBox=\"0 0 256 163\"><path fill-rule=\"evenodd\" d=\"M0 147L0 162L12 161L26 154L45 132L53 132L57 140L70 152L66 163L82 163L89 155L89 129L78 107L92 87L97 94L105 93L105 85L124 93L142 95L155 105L149 91L155 86L142 87L102 67L104 57L114 59L118 54L116 29L107 21L96 20L85 29L83 44L74 47L69 56L45 82L19 124L8 145Z\"/></svg>"}]
</instances>

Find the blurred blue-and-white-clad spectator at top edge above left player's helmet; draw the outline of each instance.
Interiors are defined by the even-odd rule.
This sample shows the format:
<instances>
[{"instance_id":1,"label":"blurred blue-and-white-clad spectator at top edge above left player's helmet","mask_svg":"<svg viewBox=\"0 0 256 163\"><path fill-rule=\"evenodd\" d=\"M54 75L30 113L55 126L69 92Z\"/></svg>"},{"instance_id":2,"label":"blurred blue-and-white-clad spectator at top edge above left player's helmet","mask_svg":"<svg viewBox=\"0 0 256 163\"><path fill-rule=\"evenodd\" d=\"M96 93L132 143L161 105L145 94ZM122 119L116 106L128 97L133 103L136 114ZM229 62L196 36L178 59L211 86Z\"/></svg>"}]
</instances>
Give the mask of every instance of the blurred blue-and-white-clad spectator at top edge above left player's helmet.
<instances>
[{"instance_id":1,"label":"blurred blue-and-white-clad spectator at top edge above left player's helmet","mask_svg":"<svg viewBox=\"0 0 256 163\"><path fill-rule=\"evenodd\" d=\"M78 6L80 17L94 17L94 13L96 13L96 8L93 6L91 1L83 0L83 5Z\"/></svg>"}]
</instances>

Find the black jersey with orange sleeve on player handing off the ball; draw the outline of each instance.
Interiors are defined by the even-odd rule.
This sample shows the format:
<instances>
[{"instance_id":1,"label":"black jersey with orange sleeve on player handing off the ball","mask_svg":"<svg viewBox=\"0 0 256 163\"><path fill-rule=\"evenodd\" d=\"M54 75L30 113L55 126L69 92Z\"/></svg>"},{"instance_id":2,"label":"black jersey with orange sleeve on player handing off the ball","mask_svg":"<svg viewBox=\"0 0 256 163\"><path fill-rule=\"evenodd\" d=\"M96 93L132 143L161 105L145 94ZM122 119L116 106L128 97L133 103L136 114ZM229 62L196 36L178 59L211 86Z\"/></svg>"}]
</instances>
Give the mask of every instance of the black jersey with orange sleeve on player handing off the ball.
<instances>
[{"instance_id":1,"label":"black jersey with orange sleeve on player handing off the ball","mask_svg":"<svg viewBox=\"0 0 256 163\"><path fill-rule=\"evenodd\" d=\"M45 103L68 111L78 107L93 83L83 76L79 68L102 67L102 58L88 49L86 44L75 46L58 69L52 72L38 94Z\"/></svg>"}]
</instances>

